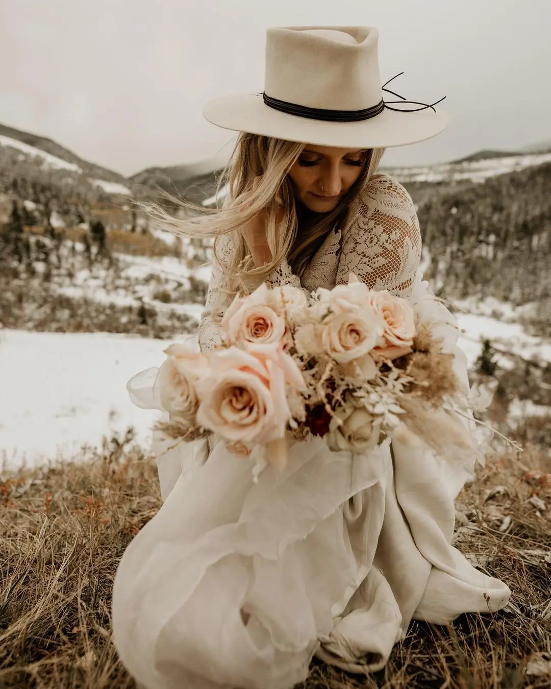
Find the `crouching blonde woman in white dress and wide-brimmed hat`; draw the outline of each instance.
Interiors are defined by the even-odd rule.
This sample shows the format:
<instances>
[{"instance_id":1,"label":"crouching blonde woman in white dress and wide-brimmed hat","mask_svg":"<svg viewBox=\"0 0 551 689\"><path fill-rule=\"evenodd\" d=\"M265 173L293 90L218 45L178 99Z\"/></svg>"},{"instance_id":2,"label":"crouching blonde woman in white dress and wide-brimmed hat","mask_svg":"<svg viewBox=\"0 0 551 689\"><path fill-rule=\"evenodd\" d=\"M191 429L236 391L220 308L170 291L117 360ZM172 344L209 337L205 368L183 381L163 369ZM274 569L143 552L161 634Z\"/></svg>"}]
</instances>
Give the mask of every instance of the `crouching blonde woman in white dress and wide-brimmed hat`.
<instances>
[{"instance_id":1,"label":"crouching blonde woman in white dress and wide-brimmed hat","mask_svg":"<svg viewBox=\"0 0 551 689\"><path fill-rule=\"evenodd\" d=\"M203 351L243 285L309 293L353 272L437 322L468 389L455 320L419 273L413 202L376 172L385 147L435 136L448 119L397 94L384 101L377 41L368 27L270 28L264 92L204 110L240 132L224 207L158 216L216 237ZM140 406L158 407L154 372L129 382ZM143 688L290 689L314 655L373 672L412 619L448 624L507 604L508 587L450 545L474 459L461 466L397 439L368 455L332 452L316 437L289 440L286 468L253 482L216 436L169 447L156 434L154 449L163 506L121 559L112 609L121 661Z\"/></svg>"}]
</instances>

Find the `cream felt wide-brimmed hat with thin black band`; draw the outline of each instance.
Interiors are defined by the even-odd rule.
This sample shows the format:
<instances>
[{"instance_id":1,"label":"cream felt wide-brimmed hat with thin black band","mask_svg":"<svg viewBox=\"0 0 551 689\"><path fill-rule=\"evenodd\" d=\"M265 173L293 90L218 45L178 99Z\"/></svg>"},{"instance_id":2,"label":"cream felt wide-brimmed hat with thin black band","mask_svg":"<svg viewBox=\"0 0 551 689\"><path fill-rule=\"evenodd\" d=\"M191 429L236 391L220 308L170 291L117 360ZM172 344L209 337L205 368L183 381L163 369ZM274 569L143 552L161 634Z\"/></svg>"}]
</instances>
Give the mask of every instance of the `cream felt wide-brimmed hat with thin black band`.
<instances>
[{"instance_id":1,"label":"cream felt wide-brimmed hat with thin black band","mask_svg":"<svg viewBox=\"0 0 551 689\"><path fill-rule=\"evenodd\" d=\"M221 96L202 114L228 130L337 147L404 146L442 132L449 116L436 103L381 83L378 43L369 26L269 28L264 91Z\"/></svg>"}]
</instances>

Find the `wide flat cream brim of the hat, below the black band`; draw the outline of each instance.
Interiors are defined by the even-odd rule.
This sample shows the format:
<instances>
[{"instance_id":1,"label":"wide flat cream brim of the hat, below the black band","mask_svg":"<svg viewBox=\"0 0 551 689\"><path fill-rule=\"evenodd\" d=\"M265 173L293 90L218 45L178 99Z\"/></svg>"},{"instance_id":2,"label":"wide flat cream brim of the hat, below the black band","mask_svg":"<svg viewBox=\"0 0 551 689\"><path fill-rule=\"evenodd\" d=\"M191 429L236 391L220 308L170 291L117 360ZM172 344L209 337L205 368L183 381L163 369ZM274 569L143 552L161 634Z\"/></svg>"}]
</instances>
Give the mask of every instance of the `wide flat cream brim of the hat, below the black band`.
<instances>
[{"instance_id":1,"label":"wide flat cream brim of the hat, below the black band","mask_svg":"<svg viewBox=\"0 0 551 689\"><path fill-rule=\"evenodd\" d=\"M418 143L440 134L450 121L448 113L434 112L428 107L417 112L385 108L368 120L326 122L274 110L264 103L262 94L250 93L211 100L203 107L202 114L217 127L235 132L342 148L386 148Z\"/></svg>"}]
</instances>

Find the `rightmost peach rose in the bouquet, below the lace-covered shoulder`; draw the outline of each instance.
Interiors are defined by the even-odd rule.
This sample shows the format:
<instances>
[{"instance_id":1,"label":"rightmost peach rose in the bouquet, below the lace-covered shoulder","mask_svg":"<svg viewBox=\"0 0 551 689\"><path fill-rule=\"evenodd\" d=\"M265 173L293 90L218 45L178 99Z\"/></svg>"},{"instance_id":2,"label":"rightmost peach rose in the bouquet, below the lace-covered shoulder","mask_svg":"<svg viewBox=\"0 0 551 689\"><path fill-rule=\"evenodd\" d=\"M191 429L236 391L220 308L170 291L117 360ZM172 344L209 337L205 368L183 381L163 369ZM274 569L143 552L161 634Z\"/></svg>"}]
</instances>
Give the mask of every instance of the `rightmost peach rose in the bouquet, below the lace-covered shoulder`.
<instances>
[{"instance_id":1,"label":"rightmost peach rose in the bouquet, below the lace-covered shoulder","mask_svg":"<svg viewBox=\"0 0 551 689\"><path fill-rule=\"evenodd\" d=\"M384 321L384 331L373 356L395 359L408 354L415 336L415 315L409 303L386 289L371 292L369 303Z\"/></svg>"}]
</instances>

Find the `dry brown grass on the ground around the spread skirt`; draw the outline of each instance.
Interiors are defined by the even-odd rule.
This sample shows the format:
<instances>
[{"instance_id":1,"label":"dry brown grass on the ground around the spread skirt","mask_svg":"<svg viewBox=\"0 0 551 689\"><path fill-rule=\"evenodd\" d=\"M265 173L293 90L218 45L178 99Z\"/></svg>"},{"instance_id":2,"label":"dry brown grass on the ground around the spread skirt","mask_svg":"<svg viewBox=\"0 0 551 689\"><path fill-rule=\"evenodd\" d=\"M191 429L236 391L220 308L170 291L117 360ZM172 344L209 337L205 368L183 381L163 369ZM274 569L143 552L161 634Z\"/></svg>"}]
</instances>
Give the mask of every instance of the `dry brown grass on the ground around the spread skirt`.
<instances>
[{"instance_id":1,"label":"dry brown grass on the ground around the spread skirt","mask_svg":"<svg viewBox=\"0 0 551 689\"><path fill-rule=\"evenodd\" d=\"M303 689L551 686L551 465L538 451L522 461L539 471L498 456L457 501L455 543L510 586L510 607L447 627L414 621L381 672L358 677L315 661ZM160 504L154 460L132 433L75 461L3 471L0 687L134 687L111 641L111 588Z\"/></svg>"}]
</instances>

